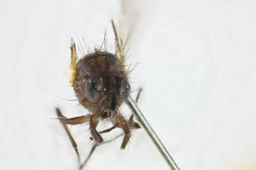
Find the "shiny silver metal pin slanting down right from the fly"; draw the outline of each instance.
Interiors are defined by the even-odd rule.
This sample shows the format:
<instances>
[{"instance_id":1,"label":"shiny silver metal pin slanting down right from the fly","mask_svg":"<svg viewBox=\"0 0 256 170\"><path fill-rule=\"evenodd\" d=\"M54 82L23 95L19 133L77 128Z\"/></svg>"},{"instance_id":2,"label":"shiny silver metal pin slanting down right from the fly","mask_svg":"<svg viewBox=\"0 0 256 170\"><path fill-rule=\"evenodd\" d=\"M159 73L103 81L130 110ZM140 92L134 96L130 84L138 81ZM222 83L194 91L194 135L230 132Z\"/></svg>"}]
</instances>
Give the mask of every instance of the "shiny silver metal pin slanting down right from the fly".
<instances>
[{"instance_id":1,"label":"shiny silver metal pin slanting down right from the fly","mask_svg":"<svg viewBox=\"0 0 256 170\"><path fill-rule=\"evenodd\" d=\"M171 170L179 170L174 160L169 155L168 151L165 149L163 144L161 143L160 139L157 137L149 123L146 121L145 117L137 107L136 103L133 101L133 99L129 96L126 100L126 104L129 107L129 109L133 112L133 115L136 117L137 121L143 126L145 129L147 135L151 138L154 145L157 147L158 151L168 164Z\"/></svg>"}]
</instances>

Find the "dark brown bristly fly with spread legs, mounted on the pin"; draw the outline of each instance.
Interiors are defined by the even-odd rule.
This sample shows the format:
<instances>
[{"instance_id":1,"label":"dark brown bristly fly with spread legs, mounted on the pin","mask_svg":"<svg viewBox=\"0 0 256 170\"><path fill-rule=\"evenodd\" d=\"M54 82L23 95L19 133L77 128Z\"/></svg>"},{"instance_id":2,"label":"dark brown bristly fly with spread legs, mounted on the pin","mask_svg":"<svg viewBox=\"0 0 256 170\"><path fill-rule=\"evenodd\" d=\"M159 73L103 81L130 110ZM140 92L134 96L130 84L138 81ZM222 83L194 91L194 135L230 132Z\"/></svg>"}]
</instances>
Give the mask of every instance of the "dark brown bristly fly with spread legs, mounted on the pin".
<instances>
[{"instance_id":1,"label":"dark brown bristly fly with spread legs, mounted on the pin","mask_svg":"<svg viewBox=\"0 0 256 170\"><path fill-rule=\"evenodd\" d=\"M130 130L138 129L139 125L133 122L133 116L128 120L119 113L118 108L125 102L130 94L130 85L127 81L127 72L123 66L123 47L119 44L119 39L112 21L115 34L116 54L100 49L88 53L76 62L75 43L71 41L71 63L70 63L70 83L79 103L90 111L91 114L74 118L64 117L57 108L57 116L62 123L72 146L78 156L76 143L73 140L66 125L78 125L89 122L89 130L97 144L103 143L103 139L96 131L100 120L109 120L113 127L102 131L109 132L115 127L121 128L124 138L121 149L125 149L130 138ZM117 57L118 56L118 57Z\"/></svg>"}]
</instances>

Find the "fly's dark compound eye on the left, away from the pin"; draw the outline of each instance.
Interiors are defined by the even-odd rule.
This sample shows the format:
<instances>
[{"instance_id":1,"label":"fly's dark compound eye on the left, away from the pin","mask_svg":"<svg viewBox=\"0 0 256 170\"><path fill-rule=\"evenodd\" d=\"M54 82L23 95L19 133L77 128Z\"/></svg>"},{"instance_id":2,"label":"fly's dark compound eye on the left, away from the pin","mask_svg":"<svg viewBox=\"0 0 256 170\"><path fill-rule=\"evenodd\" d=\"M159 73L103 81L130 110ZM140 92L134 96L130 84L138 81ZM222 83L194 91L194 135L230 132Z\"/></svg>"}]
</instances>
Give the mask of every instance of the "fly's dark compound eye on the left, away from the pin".
<instances>
[{"instance_id":1,"label":"fly's dark compound eye on the left, away from the pin","mask_svg":"<svg viewBox=\"0 0 256 170\"><path fill-rule=\"evenodd\" d=\"M103 83L102 78L98 76L91 77L87 80L85 84L85 92L88 99L93 103L99 100L100 91L102 89Z\"/></svg>"}]
</instances>

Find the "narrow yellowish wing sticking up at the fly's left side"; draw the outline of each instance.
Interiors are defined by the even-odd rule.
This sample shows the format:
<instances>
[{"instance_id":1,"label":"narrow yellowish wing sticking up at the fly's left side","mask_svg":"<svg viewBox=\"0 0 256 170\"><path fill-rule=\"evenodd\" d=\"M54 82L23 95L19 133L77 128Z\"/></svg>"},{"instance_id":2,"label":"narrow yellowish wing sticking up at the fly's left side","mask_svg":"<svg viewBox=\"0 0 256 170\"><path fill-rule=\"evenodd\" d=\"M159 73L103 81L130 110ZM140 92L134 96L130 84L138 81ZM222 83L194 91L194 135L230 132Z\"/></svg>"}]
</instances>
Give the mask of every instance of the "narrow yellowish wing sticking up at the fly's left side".
<instances>
[{"instance_id":1,"label":"narrow yellowish wing sticking up at the fly's left side","mask_svg":"<svg viewBox=\"0 0 256 170\"><path fill-rule=\"evenodd\" d=\"M68 83L72 84L73 80L78 76L78 72L75 70L77 56L76 56L76 50L75 50L75 44L74 44L73 38L71 38L70 50L71 50L71 60L69 65L70 76L68 79Z\"/></svg>"}]
</instances>

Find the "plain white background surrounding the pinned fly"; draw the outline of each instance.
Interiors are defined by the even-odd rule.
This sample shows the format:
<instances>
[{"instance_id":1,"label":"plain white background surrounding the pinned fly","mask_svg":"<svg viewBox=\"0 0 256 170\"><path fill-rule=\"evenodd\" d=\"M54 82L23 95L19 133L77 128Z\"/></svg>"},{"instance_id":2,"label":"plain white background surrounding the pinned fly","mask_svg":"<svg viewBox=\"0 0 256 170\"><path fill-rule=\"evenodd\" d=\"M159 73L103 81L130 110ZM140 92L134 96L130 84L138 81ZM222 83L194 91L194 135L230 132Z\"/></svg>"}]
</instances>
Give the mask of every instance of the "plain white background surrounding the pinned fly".
<instances>
[{"instance_id":1,"label":"plain white background surrounding the pinned fly","mask_svg":"<svg viewBox=\"0 0 256 170\"><path fill-rule=\"evenodd\" d=\"M127 63L142 64L131 87L143 84L139 107L179 168L255 170L255 7L254 0L1 0L0 169L77 169L64 130L50 118L56 106L67 117L88 113L59 98L75 99L70 38L80 46L75 30L101 44L106 29L113 52L113 18L121 34L134 21ZM92 146L87 128L71 128L82 158ZM97 148L85 169L168 169L143 130L125 151L120 143Z\"/></svg>"}]
</instances>

